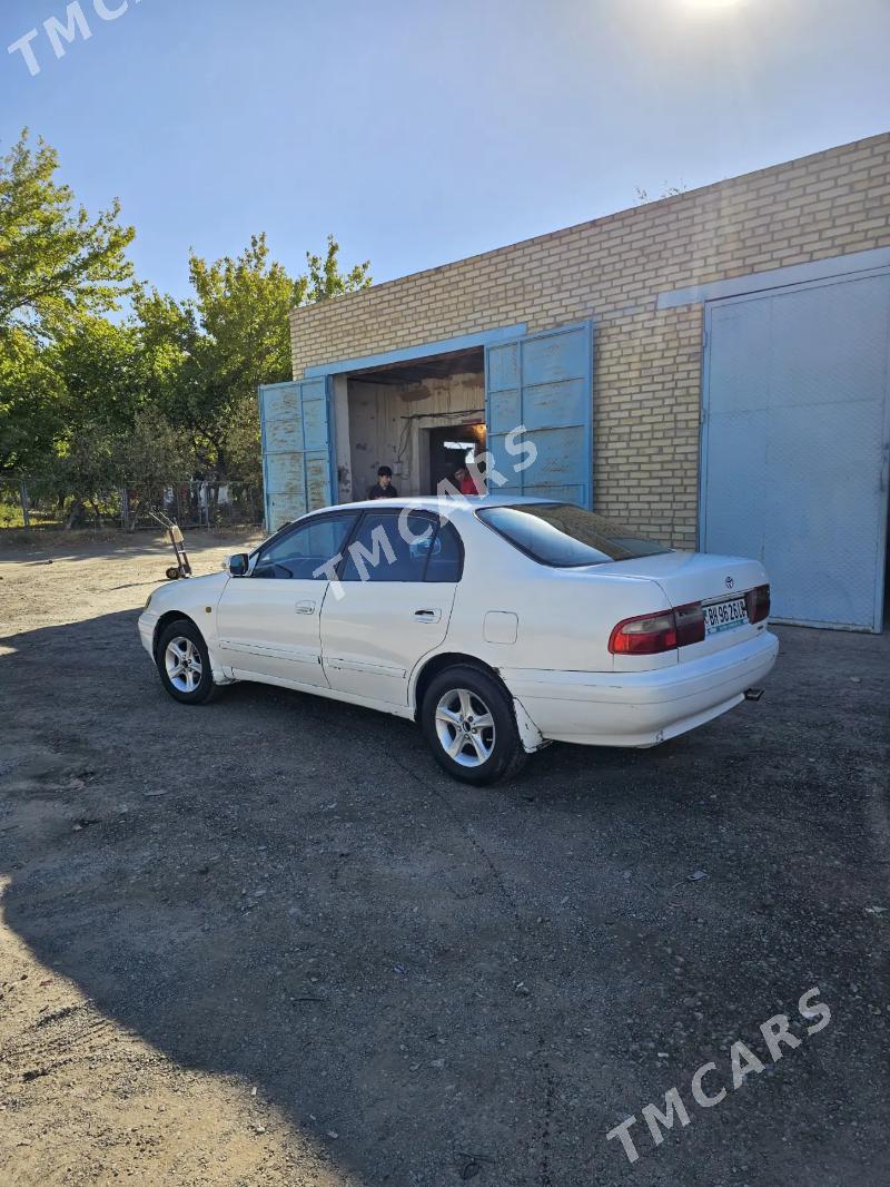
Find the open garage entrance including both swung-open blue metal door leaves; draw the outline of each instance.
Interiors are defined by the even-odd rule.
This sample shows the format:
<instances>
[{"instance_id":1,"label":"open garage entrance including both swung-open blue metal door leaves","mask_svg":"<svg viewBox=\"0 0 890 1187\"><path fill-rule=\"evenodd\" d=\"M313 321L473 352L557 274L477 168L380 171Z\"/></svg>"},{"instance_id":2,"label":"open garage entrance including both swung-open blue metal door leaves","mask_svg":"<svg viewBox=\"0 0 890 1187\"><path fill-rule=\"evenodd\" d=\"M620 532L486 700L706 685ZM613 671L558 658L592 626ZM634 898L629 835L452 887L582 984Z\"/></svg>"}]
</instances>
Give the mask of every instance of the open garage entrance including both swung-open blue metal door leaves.
<instances>
[{"instance_id":1,"label":"open garage entrance including both swung-open blue metal door leaves","mask_svg":"<svg viewBox=\"0 0 890 1187\"><path fill-rule=\"evenodd\" d=\"M437 429L477 438L490 489L591 507L592 412L589 320L313 366L260 388L266 526L367 499L381 465L400 494L427 494Z\"/></svg>"}]
</instances>

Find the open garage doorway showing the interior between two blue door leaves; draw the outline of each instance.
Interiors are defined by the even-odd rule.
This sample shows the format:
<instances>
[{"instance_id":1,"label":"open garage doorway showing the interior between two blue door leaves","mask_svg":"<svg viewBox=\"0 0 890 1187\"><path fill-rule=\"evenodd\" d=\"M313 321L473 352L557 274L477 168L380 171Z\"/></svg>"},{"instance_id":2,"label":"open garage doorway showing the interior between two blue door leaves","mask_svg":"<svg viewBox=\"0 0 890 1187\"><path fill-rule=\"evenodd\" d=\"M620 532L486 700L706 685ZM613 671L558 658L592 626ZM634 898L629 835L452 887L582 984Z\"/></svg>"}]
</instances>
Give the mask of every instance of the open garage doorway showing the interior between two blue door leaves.
<instances>
[{"instance_id":1,"label":"open garage doorway showing the interior between two blue door leaves","mask_svg":"<svg viewBox=\"0 0 890 1187\"><path fill-rule=\"evenodd\" d=\"M464 443L485 449L484 349L338 375L335 415L339 502L365 499L381 465L400 495L434 494L462 464Z\"/></svg>"}]
</instances>

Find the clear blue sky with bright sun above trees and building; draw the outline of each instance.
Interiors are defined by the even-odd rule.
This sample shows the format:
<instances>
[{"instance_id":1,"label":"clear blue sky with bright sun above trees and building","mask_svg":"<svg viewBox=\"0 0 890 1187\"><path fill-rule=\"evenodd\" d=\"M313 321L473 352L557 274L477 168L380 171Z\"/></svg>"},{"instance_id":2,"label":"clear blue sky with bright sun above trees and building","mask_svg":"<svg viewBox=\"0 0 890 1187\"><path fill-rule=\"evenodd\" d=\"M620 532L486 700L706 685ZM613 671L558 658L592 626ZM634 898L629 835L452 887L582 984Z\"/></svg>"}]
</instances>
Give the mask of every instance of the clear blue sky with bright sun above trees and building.
<instances>
[{"instance_id":1,"label":"clear blue sky with bright sun above trees and building","mask_svg":"<svg viewBox=\"0 0 890 1187\"><path fill-rule=\"evenodd\" d=\"M120 197L177 294L258 230L387 280L890 127L888 0L123 2L58 59L66 0L0 6L39 66L0 49L1 147L28 125Z\"/></svg>"}]
</instances>

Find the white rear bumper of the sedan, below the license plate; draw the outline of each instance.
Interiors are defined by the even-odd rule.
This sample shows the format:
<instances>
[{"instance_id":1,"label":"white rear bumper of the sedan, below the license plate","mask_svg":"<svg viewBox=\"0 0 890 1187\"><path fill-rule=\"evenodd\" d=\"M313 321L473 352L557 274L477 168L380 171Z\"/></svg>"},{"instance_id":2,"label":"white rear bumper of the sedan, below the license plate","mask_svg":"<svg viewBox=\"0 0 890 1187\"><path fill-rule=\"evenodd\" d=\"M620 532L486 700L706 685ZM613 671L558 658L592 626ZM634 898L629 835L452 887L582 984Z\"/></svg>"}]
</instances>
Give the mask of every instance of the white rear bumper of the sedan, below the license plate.
<instances>
[{"instance_id":1,"label":"white rear bumper of the sedan, below the license plate","mask_svg":"<svg viewBox=\"0 0 890 1187\"><path fill-rule=\"evenodd\" d=\"M501 675L549 741L650 747L739 704L777 654L778 640L764 630L725 650L653 672L502 668Z\"/></svg>"}]
</instances>

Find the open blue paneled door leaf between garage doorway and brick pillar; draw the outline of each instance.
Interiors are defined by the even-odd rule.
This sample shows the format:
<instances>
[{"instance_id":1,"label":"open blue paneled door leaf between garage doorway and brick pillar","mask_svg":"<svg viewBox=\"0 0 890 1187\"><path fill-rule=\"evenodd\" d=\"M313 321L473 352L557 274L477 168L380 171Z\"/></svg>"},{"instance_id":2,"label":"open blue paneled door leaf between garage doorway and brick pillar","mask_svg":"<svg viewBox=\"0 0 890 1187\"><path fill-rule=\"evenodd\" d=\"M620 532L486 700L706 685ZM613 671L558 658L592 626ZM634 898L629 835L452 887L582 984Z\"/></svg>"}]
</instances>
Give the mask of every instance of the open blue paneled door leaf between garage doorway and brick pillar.
<instances>
[{"instance_id":1,"label":"open blue paneled door leaf between garage doorway and brick pillar","mask_svg":"<svg viewBox=\"0 0 890 1187\"><path fill-rule=\"evenodd\" d=\"M491 494L539 495L590 507L593 497L593 329L590 322L485 348ZM516 430L525 425L525 433ZM523 442L534 444L535 461Z\"/></svg>"}]
</instances>

